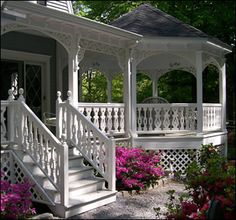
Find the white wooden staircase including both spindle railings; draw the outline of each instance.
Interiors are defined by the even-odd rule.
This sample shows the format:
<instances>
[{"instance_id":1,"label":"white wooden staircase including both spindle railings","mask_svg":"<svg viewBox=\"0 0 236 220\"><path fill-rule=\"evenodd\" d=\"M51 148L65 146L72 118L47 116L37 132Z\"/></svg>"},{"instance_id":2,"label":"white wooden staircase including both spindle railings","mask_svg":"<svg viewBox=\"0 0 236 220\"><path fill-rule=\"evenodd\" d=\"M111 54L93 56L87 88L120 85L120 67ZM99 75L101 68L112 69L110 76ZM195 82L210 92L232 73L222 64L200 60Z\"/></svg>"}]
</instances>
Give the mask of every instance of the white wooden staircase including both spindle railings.
<instances>
[{"instance_id":1,"label":"white wooden staircase including both spindle railings","mask_svg":"<svg viewBox=\"0 0 236 220\"><path fill-rule=\"evenodd\" d=\"M1 140L14 142L14 148L9 148L14 163L37 187L41 198L38 202L46 203L54 215L68 218L116 200L114 141L86 117L74 112L80 119L76 131L80 138L72 135L69 139L67 133L62 134L60 142L24 103L22 94L18 100L8 99L4 108L1 111L7 112L8 121L14 110L18 111L14 120L20 120L13 130L6 126L8 135L1 136ZM69 113L69 108L66 111ZM67 123L67 129L74 131L72 127Z\"/></svg>"}]
</instances>

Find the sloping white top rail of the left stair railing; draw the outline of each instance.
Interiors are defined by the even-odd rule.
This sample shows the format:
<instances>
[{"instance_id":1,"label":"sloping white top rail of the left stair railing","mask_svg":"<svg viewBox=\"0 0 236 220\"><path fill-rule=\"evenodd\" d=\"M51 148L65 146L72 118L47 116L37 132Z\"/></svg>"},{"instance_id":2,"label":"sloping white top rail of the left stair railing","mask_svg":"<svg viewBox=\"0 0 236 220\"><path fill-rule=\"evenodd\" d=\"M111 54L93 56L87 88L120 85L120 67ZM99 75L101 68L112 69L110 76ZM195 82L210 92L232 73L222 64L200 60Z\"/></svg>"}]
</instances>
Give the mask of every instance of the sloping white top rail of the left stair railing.
<instances>
[{"instance_id":1,"label":"sloping white top rail of the left stair railing","mask_svg":"<svg viewBox=\"0 0 236 220\"><path fill-rule=\"evenodd\" d=\"M61 145L61 142L53 135L53 133L47 128L47 126L43 124L38 117L34 117L33 111L24 102L21 102L21 104L23 110L26 111L34 119L36 125L44 131L45 135L50 137L50 140L53 141L54 144Z\"/></svg>"}]
</instances>

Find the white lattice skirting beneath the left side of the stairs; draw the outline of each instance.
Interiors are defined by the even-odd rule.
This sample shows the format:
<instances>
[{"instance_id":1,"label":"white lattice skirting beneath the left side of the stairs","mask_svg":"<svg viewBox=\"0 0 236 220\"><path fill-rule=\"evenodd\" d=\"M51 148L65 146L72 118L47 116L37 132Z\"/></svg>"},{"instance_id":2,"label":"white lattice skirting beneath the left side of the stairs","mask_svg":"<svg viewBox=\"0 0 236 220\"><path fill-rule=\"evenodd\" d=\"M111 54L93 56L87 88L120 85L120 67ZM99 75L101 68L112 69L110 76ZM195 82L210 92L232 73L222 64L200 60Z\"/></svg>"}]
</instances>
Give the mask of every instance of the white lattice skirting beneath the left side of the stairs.
<instances>
[{"instance_id":1,"label":"white lattice skirting beneath the left side of the stairs","mask_svg":"<svg viewBox=\"0 0 236 220\"><path fill-rule=\"evenodd\" d=\"M27 174L24 172L24 169L14 158L10 150L1 151L1 180L6 180L9 183L22 183L26 178ZM29 179L32 183L32 181ZM45 199L41 196L41 193L38 190L38 187L33 184L30 191L32 193L32 200L36 202L45 203Z\"/></svg>"}]
</instances>

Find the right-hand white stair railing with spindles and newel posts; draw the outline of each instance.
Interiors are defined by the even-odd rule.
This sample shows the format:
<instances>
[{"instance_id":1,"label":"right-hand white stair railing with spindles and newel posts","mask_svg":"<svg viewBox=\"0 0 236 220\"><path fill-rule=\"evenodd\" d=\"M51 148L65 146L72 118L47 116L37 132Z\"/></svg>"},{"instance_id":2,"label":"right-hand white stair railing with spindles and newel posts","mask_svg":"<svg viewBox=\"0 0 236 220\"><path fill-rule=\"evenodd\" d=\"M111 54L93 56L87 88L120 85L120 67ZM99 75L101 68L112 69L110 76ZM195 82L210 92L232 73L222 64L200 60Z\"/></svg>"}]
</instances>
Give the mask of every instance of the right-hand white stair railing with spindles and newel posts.
<instances>
[{"instance_id":1,"label":"right-hand white stair railing with spindles and newel posts","mask_svg":"<svg viewBox=\"0 0 236 220\"><path fill-rule=\"evenodd\" d=\"M109 139L70 103L71 92L65 102L62 102L60 92L57 96L58 138L65 134L68 144L76 147L108 182L108 189L115 190L114 139Z\"/></svg>"}]
</instances>

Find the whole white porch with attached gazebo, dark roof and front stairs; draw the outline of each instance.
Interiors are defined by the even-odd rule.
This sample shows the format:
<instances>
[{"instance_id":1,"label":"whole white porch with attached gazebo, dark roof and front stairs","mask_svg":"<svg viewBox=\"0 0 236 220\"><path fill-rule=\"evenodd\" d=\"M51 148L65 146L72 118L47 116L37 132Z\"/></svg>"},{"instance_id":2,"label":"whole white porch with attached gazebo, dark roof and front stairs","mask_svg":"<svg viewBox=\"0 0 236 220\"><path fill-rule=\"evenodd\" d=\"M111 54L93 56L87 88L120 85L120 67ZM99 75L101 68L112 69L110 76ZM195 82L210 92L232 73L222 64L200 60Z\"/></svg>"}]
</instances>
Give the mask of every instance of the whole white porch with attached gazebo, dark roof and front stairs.
<instances>
[{"instance_id":1,"label":"whole white porch with attached gazebo, dark roof and front stairs","mask_svg":"<svg viewBox=\"0 0 236 220\"><path fill-rule=\"evenodd\" d=\"M116 145L159 150L164 166L172 160L175 171L184 171L189 150L196 153L201 144L224 145L226 153L229 52L148 4L106 25L75 16L70 1L1 1L5 180L28 177L35 201L69 217L116 200ZM214 104L203 103L202 73L210 64L219 72L220 102ZM80 102L79 82L89 69L107 77L108 103ZM157 98L159 77L176 69L196 77L196 103L137 103L137 71L150 76ZM124 102L111 103L118 73ZM53 132L41 120L47 112L55 114Z\"/></svg>"}]
</instances>

